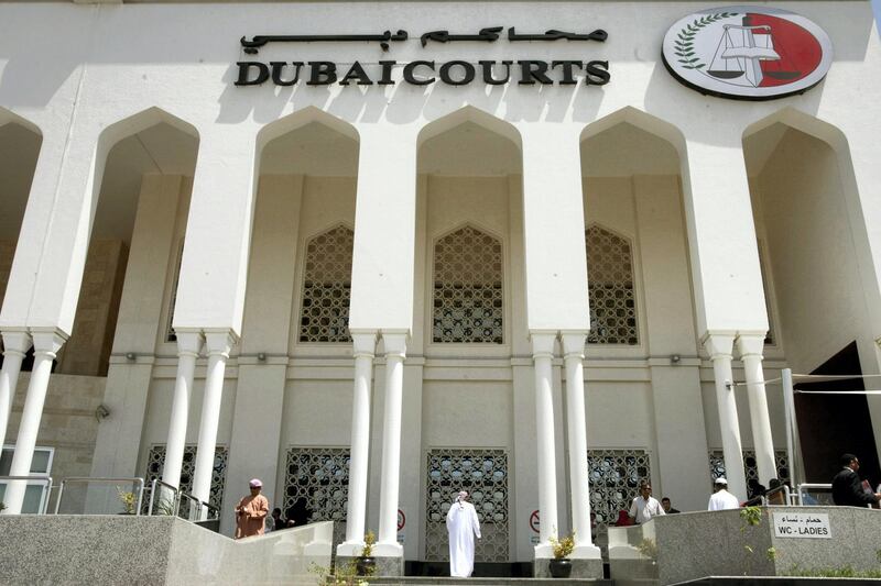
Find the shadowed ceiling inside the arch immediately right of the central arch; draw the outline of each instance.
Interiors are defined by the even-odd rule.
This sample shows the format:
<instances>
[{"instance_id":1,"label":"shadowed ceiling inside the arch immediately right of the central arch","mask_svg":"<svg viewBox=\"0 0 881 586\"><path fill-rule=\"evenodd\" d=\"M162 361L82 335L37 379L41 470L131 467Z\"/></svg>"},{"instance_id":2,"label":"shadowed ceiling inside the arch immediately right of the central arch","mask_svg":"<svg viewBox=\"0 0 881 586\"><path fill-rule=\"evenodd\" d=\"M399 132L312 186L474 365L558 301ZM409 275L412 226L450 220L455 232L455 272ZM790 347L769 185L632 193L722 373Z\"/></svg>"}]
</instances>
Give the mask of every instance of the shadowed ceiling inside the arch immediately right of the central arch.
<instances>
[{"instance_id":1,"label":"shadowed ceiling inside the arch immediately right of the central arch","mask_svg":"<svg viewBox=\"0 0 881 586\"><path fill-rule=\"evenodd\" d=\"M667 141L622 122L581 143L585 177L678 175L679 155Z\"/></svg>"}]
</instances>

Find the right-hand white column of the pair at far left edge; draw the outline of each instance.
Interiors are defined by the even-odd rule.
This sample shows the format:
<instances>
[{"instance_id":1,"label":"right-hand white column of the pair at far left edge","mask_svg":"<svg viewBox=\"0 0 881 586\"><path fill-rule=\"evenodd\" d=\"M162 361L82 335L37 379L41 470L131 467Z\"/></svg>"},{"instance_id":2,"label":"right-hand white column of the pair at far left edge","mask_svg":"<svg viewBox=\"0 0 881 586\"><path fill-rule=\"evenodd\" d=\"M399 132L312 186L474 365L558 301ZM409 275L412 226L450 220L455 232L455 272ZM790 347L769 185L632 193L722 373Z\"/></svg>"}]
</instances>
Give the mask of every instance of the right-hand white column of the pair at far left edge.
<instances>
[{"instance_id":1,"label":"right-hand white column of the pair at far left edge","mask_svg":"<svg viewBox=\"0 0 881 586\"><path fill-rule=\"evenodd\" d=\"M21 414L19 438L12 455L10 476L26 476L31 473L31 461L34 457L36 435L40 432L40 419L43 416L43 403L46 400L48 379L52 374L52 361L65 342L57 330L51 332L32 332L34 340L34 367L31 383L28 385L28 397L24 399L24 411ZM10 483L7 487L7 515L21 513L26 483Z\"/></svg>"}]
</instances>

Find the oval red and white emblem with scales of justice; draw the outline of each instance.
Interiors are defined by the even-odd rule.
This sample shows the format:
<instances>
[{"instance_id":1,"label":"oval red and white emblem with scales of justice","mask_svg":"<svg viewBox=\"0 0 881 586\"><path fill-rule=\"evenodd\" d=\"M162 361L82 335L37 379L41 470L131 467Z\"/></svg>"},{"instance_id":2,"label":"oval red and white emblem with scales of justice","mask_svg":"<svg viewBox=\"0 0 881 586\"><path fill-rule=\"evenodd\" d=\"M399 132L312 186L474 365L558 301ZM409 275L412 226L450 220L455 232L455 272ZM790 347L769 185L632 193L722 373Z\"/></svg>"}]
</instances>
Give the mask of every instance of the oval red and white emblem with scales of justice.
<instances>
[{"instance_id":1,"label":"oval red and white emblem with scales of justice","mask_svg":"<svg viewBox=\"0 0 881 586\"><path fill-rule=\"evenodd\" d=\"M676 79L701 93L771 100L819 84L833 49L826 32L800 14L738 5L674 23L663 57Z\"/></svg>"}]
</instances>

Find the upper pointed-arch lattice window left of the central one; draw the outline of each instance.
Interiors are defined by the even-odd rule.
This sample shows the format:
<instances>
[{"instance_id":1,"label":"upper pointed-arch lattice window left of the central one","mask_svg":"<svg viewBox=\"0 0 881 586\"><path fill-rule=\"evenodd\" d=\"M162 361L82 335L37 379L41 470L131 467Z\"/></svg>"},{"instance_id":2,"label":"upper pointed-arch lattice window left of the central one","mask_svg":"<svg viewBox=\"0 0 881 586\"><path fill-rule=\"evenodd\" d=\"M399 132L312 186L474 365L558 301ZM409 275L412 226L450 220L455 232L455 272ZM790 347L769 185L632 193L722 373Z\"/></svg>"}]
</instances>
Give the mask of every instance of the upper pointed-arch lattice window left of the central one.
<instances>
[{"instance_id":1,"label":"upper pointed-arch lattice window left of the central one","mask_svg":"<svg viewBox=\"0 0 881 586\"><path fill-rule=\"evenodd\" d=\"M351 342L351 251L355 233L345 225L328 230L306 244L301 342Z\"/></svg>"}]
</instances>

